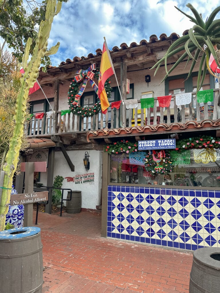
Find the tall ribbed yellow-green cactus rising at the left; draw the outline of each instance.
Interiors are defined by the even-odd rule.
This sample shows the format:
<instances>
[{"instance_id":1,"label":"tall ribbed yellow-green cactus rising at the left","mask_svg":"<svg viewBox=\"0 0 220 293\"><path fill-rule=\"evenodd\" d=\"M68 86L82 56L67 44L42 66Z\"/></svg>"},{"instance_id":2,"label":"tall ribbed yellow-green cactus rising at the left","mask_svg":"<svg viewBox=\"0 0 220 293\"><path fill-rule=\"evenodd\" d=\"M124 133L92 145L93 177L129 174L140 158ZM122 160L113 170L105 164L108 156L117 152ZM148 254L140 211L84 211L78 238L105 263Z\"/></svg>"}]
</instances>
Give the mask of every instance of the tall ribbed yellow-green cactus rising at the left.
<instances>
[{"instance_id":1,"label":"tall ribbed yellow-green cactus rising at the left","mask_svg":"<svg viewBox=\"0 0 220 293\"><path fill-rule=\"evenodd\" d=\"M45 55L48 56L55 54L60 45L58 42L57 45L52 47L49 51L46 51L53 18L55 15L57 15L57 13L60 12L61 6L62 2L60 1L57 2L57 0L48 0L45 20L40 23L38 38L31 56L31 60L29 62L28 57L32 43L31 38L29 38L26 43L26 48L22 60L22 66L25 72L21 77L21 87L16 101L16 113L14 117L15 127L13 131L13 137L10 140L9 151L6 155L6 162L3 167L5 176L3 186L1 186L2 195L0 204L0 231L3 231L5 227L6 214L9 209L11 198L12 179L19 161L19 151L21 148L21 137L24 131L26 102L28 99L29 89L33 87L34 83L36 82L41 59Z\"/></svg>"}]
</instances>

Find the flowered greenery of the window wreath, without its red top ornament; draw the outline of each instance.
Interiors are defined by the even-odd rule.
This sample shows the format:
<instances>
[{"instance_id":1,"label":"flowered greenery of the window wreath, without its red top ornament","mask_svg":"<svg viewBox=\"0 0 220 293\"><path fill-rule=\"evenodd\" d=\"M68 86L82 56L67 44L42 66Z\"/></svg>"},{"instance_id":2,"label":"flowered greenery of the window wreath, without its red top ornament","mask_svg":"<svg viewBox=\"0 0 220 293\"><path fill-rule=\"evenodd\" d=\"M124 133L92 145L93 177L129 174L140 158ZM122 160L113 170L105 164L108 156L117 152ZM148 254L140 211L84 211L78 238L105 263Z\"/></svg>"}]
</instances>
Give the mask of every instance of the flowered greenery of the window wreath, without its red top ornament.
<instances>
[{"instance_id":1,"label":"flowered greenery of the window wreath, without its red top ornament","mask_svg":"<svg viewBox=\"0 0 220 293\"><path fill-rule=\"evenodd\" d=\"M157 153L159 151L160 150L156 150ZM172 166L172 159L170 157L170 153L167 150L164 150L164 151L165 151L165 157L163 157L161 161L158 163L156 163L153 159L153 152L149 151L149 154L146 155L145 159L143 159L146 171L154 175L172 172L173 166Z\"/></svg>"}]
</instances>

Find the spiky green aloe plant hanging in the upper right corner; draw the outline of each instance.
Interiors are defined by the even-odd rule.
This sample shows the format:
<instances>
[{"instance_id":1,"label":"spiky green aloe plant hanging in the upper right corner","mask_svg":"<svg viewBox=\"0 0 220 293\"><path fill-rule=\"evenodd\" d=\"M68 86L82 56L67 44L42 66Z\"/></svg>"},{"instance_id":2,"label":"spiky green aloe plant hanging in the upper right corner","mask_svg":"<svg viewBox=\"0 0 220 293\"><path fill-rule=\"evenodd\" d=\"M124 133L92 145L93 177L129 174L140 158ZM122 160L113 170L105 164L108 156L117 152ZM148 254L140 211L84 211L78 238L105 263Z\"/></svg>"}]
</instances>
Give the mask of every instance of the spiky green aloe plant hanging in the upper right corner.
<instances>
[{"instance_id":1,"label":"spiky green aloe plant hanging in the upper right corner","mask_svg":"<svg viewBox=\"0 0 220 293\"><path fill-rule=\"evenodd\" d=\"M188 35L184 35L176 40L167 50L165 56L160 59L151 69L156 68L154 75L157 73L160 65L165 62L166 75L164 76L163 82L167 76L175 69L180 62L188 57L187 64L192 60L191 67L189 69L189 74L187 79L191 75L194 66L199 62L199 73L197 79L197 92L202 87L205 79L206 71L214 75L209 67L209 58L212 54L216 64L220 67L220 19L214 20L217 13L220 11L220 6L218 6L207 18L206 22L203 21L202 16L199 12L188 3L186 5L191 9L194 17L186 14L175 6L177 10L187 16L190 21L195 23L195 25L189 29ZM175 62L175 64L168 70L167 69L167 59L184 51L182 56ZM200 58L201 57L201 58ZM186 66L187 66L186 64ZM215 76L215 75L214 75Z\"/></svg>"}]
</instances>

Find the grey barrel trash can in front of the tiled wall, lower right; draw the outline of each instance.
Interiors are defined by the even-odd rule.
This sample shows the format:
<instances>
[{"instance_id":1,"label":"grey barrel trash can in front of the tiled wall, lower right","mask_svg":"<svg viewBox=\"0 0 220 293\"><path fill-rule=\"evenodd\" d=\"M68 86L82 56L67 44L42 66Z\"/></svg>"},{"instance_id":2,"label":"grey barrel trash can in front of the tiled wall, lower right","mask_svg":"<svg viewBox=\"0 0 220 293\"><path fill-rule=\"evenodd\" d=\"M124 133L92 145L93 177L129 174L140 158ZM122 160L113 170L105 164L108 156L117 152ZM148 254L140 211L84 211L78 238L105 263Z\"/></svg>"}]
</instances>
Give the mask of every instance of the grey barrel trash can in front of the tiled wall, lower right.
<instances>
[{"instance_id":1,"label":"grey barrel trash can in front of the tiled wall, lower right","mask_svg":"<svg viewBox=\"0 0 220 293\"><path fill-rule=\"evenodd\" d=\"M189 293L220 292L220 248L204 247L193 252Z\"/></svg>"}]
</instances>

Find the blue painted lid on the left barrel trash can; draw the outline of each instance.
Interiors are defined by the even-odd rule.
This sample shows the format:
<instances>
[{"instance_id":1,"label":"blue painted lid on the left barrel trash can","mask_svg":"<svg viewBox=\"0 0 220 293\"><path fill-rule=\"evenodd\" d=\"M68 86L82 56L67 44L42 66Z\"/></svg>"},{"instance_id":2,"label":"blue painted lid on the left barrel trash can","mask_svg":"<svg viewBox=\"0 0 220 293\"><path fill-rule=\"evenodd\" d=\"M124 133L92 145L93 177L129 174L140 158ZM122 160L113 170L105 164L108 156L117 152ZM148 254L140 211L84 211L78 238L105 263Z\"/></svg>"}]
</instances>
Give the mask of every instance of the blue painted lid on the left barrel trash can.
<instances>
[{"instance_id":1,"label":"blue painted lid on the left barrel trash can","mask_svg":"<svg viewBox=\"0 0 220 293\"><path fill-rule=\"evenodd\" d=\"M21 227L13 228L0 232L0 240L4 239L19 239L28 236L33 236L40 232L38 227Z\"/></svg>"}]
</instances>

